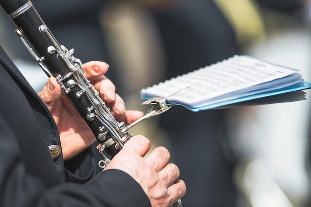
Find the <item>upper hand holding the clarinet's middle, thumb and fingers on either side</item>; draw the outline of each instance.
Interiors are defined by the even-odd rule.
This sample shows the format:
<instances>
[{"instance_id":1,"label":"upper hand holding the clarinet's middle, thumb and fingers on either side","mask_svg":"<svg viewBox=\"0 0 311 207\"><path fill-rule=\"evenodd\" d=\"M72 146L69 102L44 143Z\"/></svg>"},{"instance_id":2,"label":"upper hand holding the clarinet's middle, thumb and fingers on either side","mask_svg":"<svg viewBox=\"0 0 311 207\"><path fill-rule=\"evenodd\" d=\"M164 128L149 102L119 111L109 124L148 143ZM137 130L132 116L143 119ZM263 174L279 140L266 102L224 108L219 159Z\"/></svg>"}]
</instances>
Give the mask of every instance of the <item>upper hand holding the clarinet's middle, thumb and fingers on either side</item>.
<instances>
[{"instance_id":1,"label":"upper hand holding the clarinet's middle, thumb and fingers on either side","mask_svg":"<svg viewBox=\"0 0 311 207\"><path fill-rule=\"evenodd\" d=\"M125 121L130 124L143 116L143 113L125 110L122 98L115 93L114 84L103 75L108 68L109 66L106 63L99 61L83 64L86 78L100 92L100 96L106 102L107 107L113 111L114 115L119 119L118 121ZM56 78L50 77L48 83L38 95L47 105L56 122L61 138L64 160L73 158L95 141L94 135L68 97L63 93Z\"/></svg>"}]
</instances>

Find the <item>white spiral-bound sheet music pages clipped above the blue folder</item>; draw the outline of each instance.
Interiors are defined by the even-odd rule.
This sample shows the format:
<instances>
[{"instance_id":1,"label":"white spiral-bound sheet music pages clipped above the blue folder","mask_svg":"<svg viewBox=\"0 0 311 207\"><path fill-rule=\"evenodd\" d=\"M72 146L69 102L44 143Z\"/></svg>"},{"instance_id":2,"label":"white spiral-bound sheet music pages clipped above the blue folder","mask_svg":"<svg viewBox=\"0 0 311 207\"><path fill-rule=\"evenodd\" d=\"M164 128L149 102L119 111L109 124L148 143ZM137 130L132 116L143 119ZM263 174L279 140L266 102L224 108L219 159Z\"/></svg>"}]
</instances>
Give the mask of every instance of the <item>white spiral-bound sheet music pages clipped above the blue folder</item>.
<instances>
[{"instance_id":1,"label":"white spiral-bound sheet music pages clipped above the blue folder","mask_svg":"<svg viewBox=\"0 0 311 207\"><path fill-rule=\"evenodd\" d=\"M143 89L141 95L142 97L168 97L167 103L199 106L226 100L225 94L234 95L236 92L235 96L243 95L238 93L247 90L241 89L284 78L290 74L292 74L291 79L298 79L301 76L294 69L248 56L233 56L228 60ZM282 82L285 80L277 81L275 86Z\"/></svg>"}]
</instances>

